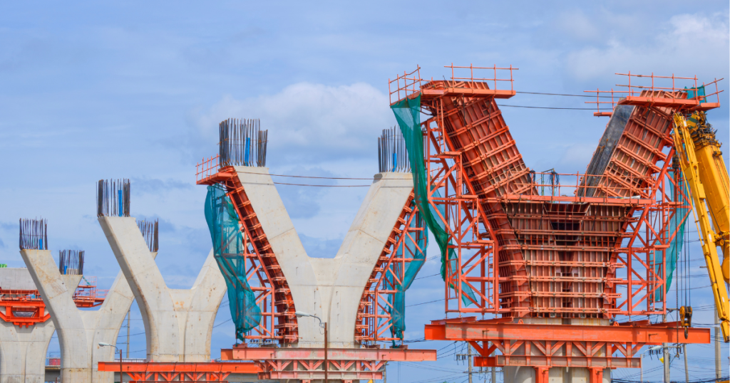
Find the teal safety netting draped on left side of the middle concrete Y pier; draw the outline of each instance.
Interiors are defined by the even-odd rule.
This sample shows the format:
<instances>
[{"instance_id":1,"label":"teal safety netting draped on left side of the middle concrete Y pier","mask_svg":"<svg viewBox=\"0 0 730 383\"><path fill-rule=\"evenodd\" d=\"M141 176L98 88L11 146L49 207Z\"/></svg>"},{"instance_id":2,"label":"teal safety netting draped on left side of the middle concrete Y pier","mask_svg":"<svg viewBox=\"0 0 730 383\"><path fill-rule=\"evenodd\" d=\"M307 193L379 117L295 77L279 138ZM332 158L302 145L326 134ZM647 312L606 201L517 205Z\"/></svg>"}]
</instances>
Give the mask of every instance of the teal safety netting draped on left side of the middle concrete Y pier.
<instances>
[{"instance_id":1,"label":"teal safety netting draped on left side of the middle concrete Y pier","mask_svg":"<svg viewBox=\"0 0 730 383\"><path fill-rule=\"evenodd\" d=\"M246 279L246 258L238 214L226 190L220 185L208 187L205 198L205 220L213 242L213 256L226 279L231 318L236 325L236 338L261 322L261 309Z\"/></svg>"}]
</instances>

